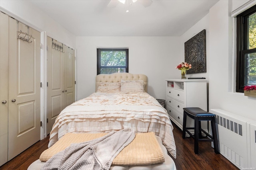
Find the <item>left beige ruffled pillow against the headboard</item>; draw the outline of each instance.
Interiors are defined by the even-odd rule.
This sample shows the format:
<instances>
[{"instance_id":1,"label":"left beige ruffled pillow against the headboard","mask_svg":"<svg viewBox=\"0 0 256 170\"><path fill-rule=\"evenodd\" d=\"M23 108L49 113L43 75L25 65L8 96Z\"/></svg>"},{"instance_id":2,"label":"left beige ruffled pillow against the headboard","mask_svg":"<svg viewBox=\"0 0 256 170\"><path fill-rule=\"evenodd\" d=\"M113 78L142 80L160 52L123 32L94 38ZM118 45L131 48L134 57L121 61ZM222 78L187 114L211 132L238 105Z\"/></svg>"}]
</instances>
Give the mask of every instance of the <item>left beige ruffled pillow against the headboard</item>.
<instances>
[{"instance_id":1,"label":"left beige ruffled pillow against the headboard","mask_svg":"<svg viewBox=\"0 0 256 170\"><path fill-rule=\"evenodd\" d=\"M120 92L120 82L100 82L97 92Z\"/></svg>"}]
</instances>

